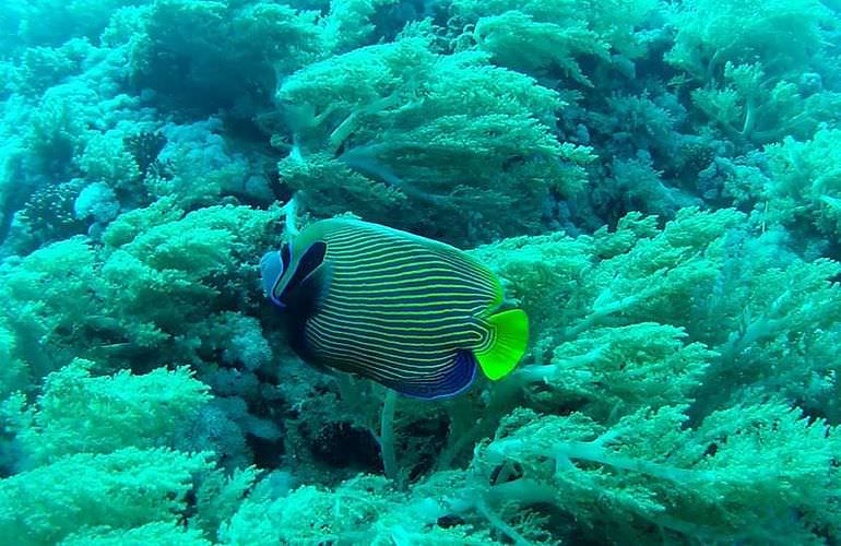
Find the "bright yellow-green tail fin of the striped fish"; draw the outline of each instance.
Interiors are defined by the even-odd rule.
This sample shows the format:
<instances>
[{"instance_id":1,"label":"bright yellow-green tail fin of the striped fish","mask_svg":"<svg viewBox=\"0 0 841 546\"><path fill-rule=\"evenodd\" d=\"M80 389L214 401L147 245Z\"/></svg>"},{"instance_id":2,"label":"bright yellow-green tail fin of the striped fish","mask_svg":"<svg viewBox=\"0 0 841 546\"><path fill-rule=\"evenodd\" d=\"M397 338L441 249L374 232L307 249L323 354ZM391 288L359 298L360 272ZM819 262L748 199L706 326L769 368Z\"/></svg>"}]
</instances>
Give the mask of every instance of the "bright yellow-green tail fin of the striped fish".
<instances>
[{"instance_id":1,"label":"bright yellow-green tail fin of the striped fish","mask_svg":"<svg viewBox=\"0 0 841 546\"><path fill-rule=\"evenodd\" d=\"M494 330L494 343L476 353L482 371L488 379L504 378L517 367L529 345L529 317L522 309L508 309L487 318Z\"/></svg>"}]
</instances>

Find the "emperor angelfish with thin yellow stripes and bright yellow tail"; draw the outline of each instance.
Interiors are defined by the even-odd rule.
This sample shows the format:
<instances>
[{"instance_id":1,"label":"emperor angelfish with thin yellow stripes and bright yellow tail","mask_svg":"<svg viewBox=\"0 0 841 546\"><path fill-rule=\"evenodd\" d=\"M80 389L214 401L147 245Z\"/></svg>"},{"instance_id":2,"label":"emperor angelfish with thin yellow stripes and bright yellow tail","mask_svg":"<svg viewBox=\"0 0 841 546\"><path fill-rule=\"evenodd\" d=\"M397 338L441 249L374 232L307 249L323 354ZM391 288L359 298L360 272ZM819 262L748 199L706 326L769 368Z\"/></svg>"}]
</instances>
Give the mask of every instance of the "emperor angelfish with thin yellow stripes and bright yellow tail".
<instances>
[{"instance_id":1,"label":"emperor angelfish with thin yellow stripes and bright yellow tail","mask_svg":"<svg viewBox=\"0 0 841 546\"><path fill-rule=\"evenodd\" d=\"M260 272L304 360L408 396L455 395L477 367L500 379L525 353L525 312L506 305L490 270L443 242L324 219L263 256Z\"/></svg>"}]
</instances>

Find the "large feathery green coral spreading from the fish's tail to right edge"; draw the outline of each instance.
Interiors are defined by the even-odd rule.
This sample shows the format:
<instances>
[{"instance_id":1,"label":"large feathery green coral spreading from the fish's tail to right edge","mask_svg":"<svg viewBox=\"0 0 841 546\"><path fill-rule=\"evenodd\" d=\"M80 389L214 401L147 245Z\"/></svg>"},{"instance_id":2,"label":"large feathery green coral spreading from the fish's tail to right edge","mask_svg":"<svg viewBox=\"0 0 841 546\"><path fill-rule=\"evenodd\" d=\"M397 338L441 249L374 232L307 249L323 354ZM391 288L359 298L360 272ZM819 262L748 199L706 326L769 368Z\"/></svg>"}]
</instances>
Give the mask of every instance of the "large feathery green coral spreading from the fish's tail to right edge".
<instances>
[{"instance_id":1,"label":"large feathery green coral spreading from the fish's tail to right edge","mask_svg":"<svg viewBox=\"0 0 841 546\"><path fill-rule=\"evenodd\" d=\"M744 395L739 389L750 387L783 392L808 408L821 407L834 423L832 393L838 383L827 351L841 335L834 327L841 320L841 290L832 282L838 263L807 262L785 253L774 234L748 239L738 228L746 216L732 210L682 210L662 232L653 219L631 214L615 233L600 230L578 240L512 239L477 251L496 264L509 282L509 293L522 300L533 320L538 368L522 367L512 377L541 388L547 381L553 384L558 365L570 367L566 373L581 375L567 384L557 383L566 394L554 403L592 403L572 385L588 384L594 375L584 372L588 368L614 361L602 355L623 351L643 356L648 344L682 347L675 337L685 336L712 352L698 345L680 348L672 353L671 372L683 378L690 371L683 392L688 399L692 381L703 384L695 396L703 401L704 411L731 396L738 400ZM663 325L645 324L652 321ZM645 329L650 336L632 335ZM621 349L624 343L630 345ZM692 355L689 368L678 357L682 353ZM663 358L653 360L662 364ZM542 370L540 365L545 364L553 367ZM698 376L702 369L706 373ZM605 371L600 368L595 377ZM635 367L623 371L632 375ZM644 391L636 389L647 384L630 377L632 392L613 387L624 391L624 403L642 395ZM682 381L675 380L673 387ZM591 392L595 400L606 395Z\"/></svg>"}]
</instances>

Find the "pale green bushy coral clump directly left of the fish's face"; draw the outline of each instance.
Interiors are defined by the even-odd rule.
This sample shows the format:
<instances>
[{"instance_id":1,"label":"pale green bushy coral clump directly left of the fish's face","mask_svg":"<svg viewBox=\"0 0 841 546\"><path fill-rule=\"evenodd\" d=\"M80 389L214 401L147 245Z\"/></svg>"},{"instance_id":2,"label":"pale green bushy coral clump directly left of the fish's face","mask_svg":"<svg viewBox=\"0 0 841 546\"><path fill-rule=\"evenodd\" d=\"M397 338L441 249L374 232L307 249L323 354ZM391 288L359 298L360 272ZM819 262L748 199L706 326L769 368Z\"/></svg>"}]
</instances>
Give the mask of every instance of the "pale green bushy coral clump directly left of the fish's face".
<instances>
[{"instance_id":1,"label":"pale green bushy coral clump directly left of the fish's face","mask_svg":"<svg viewBox=\"0 0 841 546\"><path fill-rule=\"evenodd\" d=\"M221 317L215 313L260 297L253 260L276 245L281 211L212 206L181 214L151 206L117 219L103 235L102 277L111 294L119 294L109 299L119 305L107 314L117 334L108 352L163 356L168 346L178 347L186 360L200 359L196 332L211 330L203 324Z\"/></svg>"}]
</instances>

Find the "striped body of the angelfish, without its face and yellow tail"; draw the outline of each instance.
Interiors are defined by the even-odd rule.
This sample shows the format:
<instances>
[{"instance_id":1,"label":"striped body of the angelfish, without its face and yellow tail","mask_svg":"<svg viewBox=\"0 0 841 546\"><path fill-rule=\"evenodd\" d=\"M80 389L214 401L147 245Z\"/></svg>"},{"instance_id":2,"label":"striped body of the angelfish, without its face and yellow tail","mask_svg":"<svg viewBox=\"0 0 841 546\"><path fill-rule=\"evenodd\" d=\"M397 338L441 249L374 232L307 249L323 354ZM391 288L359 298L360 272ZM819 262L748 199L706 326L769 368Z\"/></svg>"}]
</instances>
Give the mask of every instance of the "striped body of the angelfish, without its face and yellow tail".
<instances>
[{"instance_id":1,"label":"striped body of the angelfish, without its face and yellow tail","mask_svg":"<svg viewBox=\"0 0 841 546\"><path fill-rule=\"evenodd\" d=\"M327 366L386 384L435 384L460 351L482 352L496 276L460 250L376 225L339 222L327 244L329 287L304 330Z\"/></svg>"}]
</instances>

